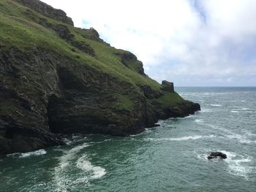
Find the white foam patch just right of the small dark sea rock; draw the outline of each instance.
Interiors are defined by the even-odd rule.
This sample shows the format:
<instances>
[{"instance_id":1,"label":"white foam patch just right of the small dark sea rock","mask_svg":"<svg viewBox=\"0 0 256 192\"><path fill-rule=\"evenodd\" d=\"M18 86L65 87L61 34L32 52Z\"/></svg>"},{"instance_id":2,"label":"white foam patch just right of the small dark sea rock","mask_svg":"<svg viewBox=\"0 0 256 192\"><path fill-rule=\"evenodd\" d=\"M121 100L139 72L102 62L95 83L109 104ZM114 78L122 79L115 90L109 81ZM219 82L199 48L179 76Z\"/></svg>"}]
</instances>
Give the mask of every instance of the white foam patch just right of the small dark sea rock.
<instances>
[{"instance_id":1,"label":"white foam patch just right of the small dark sea rock","mask_svg":"<svg viewBox=\"0 0 256 192\"><path fill-rule=\"evenodd\" d=\"M249 166L252 158L225 150L221 150L221 152L227 155L224 161L228 164L230 174L241 176L248 180L248 174L252 172L252 167Z\"/></svg>"}]
</instances>

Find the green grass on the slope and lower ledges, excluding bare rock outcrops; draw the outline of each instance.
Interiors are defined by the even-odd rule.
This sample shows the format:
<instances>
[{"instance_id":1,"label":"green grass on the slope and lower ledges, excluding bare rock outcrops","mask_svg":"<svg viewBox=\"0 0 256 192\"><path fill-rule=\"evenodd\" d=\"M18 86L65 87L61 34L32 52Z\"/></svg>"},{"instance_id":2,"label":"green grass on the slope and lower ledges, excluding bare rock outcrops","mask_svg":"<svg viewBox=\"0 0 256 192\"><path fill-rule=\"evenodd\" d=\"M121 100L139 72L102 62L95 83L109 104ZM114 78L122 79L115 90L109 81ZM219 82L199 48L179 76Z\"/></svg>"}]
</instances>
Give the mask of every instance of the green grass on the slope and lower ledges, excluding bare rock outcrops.
<instances>
[{"instance_id":1,"label":"green grass on the slope and lower ledges, excluding bare rock outcrops","mask_svg":"<svg viewBox=\"0 0 256 192\"><path fill-rule=\"evenodd\" d=\"M121 63L120 55L116 55L116 53L124 53L124 50L118 50L106 43L92 40L91 37L95 37L95 35L90 29L75 28L40 15L31 9L28 12L28 9L14 0L1 0L0 45L15 46L25 52L34 47L53 51L64 55L70 61L108 74L114 77L117 82L127 82L131 86L137 87L135 89L139 90L139 87L149 85L155 91L162 92L161 85L157 81L138 74L140 61L129 62L129 68ZM61 39L52 29L40 26L35 22L39 19L47 20L48 23L67 26L74 35L74 40L88 43L94 49L96 56L92 57L83 53L70 45L69 42ZM168 105L181 100L182 98L177 93L165 93L164 96L157 99L157 102ZM130 110L131 108L132 101L128 97L122 97L118 101L118 109Z\"/></svg>"}]
</instances>

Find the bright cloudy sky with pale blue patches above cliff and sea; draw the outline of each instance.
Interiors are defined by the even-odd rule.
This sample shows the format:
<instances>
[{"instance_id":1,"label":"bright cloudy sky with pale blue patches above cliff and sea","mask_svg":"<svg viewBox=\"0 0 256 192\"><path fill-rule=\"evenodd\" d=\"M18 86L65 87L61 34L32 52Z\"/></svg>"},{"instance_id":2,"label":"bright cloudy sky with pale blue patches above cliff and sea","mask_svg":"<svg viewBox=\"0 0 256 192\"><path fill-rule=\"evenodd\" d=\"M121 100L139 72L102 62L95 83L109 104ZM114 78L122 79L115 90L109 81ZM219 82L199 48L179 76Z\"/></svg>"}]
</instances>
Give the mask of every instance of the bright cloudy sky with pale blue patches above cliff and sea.
<instances>
[{"instance_id":1,"label":"bright cloudy sky with pale blue patches above cliff and sea","mask_svg":"<svg viewBox=\"0 0 256 192\"><path fill-rule=\"evenodd\" d=\"M256 86L255 0L42 0L176 86Z\"/></svg>"}]
</instances>

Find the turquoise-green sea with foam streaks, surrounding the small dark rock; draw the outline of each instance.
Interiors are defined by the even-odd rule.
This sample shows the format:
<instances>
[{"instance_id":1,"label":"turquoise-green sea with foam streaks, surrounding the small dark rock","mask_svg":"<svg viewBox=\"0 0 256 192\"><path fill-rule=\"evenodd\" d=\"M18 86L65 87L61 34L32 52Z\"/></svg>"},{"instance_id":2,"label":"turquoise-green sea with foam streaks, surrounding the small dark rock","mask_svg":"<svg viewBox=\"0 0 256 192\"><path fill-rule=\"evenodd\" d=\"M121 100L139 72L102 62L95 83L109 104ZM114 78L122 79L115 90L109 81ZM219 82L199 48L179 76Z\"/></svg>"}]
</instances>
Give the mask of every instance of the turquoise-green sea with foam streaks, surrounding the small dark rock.
<instances>
[{"instance_id":1,"label":"turquoise-green sea with foam streaks, surrounding the small dark rock","mask_svg":"<svg viewBox=\"0 0 256 192\"><path fill-rule=\"evenodd\" d=\"M0 160L0 191L256 191L256 88L176 88L202 111ZM211 151L225 160L207 160Z\"/></svg>"}]
</instances>

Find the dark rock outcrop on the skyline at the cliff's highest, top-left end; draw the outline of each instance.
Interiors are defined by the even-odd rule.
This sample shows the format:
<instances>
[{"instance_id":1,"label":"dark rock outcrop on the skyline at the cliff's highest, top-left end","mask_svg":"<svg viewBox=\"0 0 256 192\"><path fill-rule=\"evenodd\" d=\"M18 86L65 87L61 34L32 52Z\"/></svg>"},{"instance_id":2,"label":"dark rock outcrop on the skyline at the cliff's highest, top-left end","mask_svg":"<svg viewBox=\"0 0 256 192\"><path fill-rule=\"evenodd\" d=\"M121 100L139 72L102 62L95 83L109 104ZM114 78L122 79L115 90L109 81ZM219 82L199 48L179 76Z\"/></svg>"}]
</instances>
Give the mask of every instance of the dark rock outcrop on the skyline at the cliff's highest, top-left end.
<instances>
[{"instance_id":1,"label":"dark rock outcrop on the skyline at the cliff's highest, top-left end","mask_svg":"<svg viewBox=\"0 0 256 192\"><path fill-rule=\"evenodd\" d=\"M74 26L74 23L71 18L67 17L67 14L62 11L61 9L54 9L48 4L43 3L42 1L39 0L15 0L18 1L19 3L25 5L26 7L29 7L33 9L35 12L39 12L42 15L45 15L49 18L59 20L63 23L67 23L71 26Z\"/></svg>"}]
</instances>

